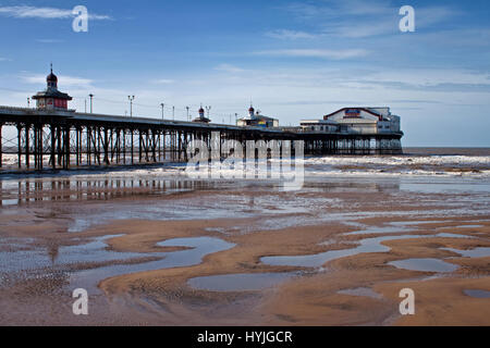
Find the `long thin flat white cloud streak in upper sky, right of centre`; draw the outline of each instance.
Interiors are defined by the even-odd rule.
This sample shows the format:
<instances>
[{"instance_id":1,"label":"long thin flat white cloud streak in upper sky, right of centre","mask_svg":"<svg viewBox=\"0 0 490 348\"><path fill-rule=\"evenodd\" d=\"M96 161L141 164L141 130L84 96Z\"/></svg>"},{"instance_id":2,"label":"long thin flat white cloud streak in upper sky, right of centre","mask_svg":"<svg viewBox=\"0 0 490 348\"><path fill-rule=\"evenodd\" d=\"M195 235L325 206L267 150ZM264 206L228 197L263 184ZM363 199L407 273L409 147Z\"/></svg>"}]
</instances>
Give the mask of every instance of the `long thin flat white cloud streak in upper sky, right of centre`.
<instances>
[{"instance_id":1,"label":"long thin flat white cloud streak in upper sky, right of centre","mask_svg":"<svg viewBox=\"0 0 490 348\"><path fill-rule=\"evenodd\" d=\"M364 49L346 49L346 50L286 49L286 50L258 51L258 52L255 52L254 54L344 60L344 59L351 59L351 58L365 57L368 53L369 52Z\"/></svg>"}]
</instances>

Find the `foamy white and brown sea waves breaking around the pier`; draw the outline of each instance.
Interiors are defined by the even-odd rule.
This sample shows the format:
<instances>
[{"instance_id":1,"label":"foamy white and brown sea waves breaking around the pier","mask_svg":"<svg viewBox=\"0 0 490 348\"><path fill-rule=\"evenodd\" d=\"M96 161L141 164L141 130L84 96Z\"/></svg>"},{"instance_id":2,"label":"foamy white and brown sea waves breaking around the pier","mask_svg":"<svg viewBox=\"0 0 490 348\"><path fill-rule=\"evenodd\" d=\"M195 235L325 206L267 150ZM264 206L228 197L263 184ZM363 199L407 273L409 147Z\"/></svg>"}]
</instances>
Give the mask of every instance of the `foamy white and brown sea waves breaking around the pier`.
<instances>
[{"instance_id":1,"label":"foamy white and brown sea waves breaking around the pier","mask_svg":"<svg viewBox=\"0 0 490 348\"><path fill-rule=\"evenodd\" d=\"M305 176L466 176L490 177L490 148L406 148L403 156L324 156L306 157L299 164L304 166ZM4 154L3 163L7 167L15 165L15 154ZM279 160L261 163L269 174ZM230 178L243 177L243 167L213 166ZM182 176L185 164L162 164L145 167L118 170L88 170L59 172L56 176L70 175L74 178L96 177L162 177ZM255 169L253 170L255 172ZM260 170L259 170L260 171ZM248 169L248 172L250 170ZM1 173L1 172L0 172ZM259 172L260 173L260 172ZM46 174L42 177L47 177ZM52 174L51 174L52 175ZM17 175L1 175L0 181L17 178Z\"/></svg>"}]
</instances>

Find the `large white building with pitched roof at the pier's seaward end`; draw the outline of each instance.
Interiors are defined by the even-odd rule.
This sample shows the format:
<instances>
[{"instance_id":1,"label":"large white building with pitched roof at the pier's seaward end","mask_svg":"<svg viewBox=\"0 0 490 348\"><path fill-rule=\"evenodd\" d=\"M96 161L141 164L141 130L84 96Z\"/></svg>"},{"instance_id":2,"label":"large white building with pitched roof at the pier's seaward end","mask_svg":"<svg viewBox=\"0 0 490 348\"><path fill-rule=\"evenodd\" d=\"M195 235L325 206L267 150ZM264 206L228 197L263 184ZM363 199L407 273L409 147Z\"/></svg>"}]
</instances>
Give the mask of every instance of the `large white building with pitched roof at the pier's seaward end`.
<instances>
[{"instance_id":1,"label":"large white building with pitched roof at the pier's seaward end","mask_svg":"<svg viewBox=\"0 0 490 348\"><path fill-rule=\"evenodd\" d=\"M304 132L382 134L401 133L400 116L390 108L344 108L319 121L302 121Z\"/></svg>"}]
</instances>

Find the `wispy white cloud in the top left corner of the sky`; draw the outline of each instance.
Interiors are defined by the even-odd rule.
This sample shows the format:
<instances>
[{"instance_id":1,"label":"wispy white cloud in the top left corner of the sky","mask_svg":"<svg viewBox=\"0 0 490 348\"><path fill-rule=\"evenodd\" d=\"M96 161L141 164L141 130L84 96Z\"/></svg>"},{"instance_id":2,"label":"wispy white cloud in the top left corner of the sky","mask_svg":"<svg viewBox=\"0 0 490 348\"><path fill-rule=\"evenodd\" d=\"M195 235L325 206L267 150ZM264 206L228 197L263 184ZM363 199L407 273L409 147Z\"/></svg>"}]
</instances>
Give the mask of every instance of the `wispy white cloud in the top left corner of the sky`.
<instances>
[{"instance_id":1,"label":"wispy white cloud in the top left corner of the sky","mask_svg":"<svg viewBox=\"0 0 490 348\"><path fill-rule=\"evenodd\" d=\"M56 9L56 8L35 8L35 7L2 7L0 14L14 18L42 18L42 20L63 20L71 18L75 15L73 10ZM89 20L110 20L108 15L91 14L88 11Z\"/></svg>"}]
</instances>

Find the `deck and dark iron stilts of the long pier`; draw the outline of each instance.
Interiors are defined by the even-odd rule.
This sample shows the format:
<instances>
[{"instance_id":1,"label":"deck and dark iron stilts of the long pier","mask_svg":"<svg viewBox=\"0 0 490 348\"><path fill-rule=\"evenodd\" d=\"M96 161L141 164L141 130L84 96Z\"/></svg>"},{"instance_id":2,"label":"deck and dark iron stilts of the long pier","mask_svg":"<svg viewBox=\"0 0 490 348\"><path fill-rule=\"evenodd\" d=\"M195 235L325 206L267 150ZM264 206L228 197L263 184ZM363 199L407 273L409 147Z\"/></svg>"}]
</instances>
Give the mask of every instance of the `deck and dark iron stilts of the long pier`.
<instances>
[{"instance_id":1,"label":"deck and dark iron stilts of the long pier","mask_svg":"<svg viewBox=\"0 0 490 348\"><path fill-rule=\"evenodd\" d=\"M306 156L401 153L403 137L0 107L0 169L5 169L5 156L16 158L11 169L35 171L185 162L189 141L209 144L212 133L242 142L304 141Z\"/></svg>"}]
</instances>

